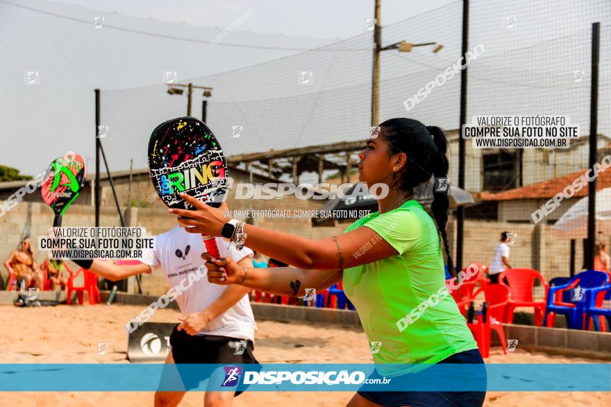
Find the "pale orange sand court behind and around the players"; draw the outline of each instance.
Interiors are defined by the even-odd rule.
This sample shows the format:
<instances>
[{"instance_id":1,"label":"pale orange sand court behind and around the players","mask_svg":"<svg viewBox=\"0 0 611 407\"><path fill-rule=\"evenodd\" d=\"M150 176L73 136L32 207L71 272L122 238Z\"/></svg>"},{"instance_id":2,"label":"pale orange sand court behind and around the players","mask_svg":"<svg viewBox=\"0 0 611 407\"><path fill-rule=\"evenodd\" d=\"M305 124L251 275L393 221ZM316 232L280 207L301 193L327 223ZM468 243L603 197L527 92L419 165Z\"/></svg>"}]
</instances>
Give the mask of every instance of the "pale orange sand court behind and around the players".
<instances>
[{"instance_id":1,"label":"pale orange sand court behind and around the players","mask_svg":"<svg viewBox=\"0 0 611 407\"><path fill-rule=\"evenodd\" d=\"M129 363L125 322L142 306L0 306L1 363ZM162 309L151 322L175 322ZM362 332L325 324L258 321L255 356L261 363L371 363ZM96 355L98 343L108 343ZM487 363L605 363L517 349L503 356L493 347ZM61 381L58 377L58 381ZM245 392L234 406L345 406L352 392ZM610 392L488 392L485 406L608 406ZM5 392L0 406L152 406L153 392ZM188 392L181 406L202 406L202 392Z\"/></svg>"}]
</instances>

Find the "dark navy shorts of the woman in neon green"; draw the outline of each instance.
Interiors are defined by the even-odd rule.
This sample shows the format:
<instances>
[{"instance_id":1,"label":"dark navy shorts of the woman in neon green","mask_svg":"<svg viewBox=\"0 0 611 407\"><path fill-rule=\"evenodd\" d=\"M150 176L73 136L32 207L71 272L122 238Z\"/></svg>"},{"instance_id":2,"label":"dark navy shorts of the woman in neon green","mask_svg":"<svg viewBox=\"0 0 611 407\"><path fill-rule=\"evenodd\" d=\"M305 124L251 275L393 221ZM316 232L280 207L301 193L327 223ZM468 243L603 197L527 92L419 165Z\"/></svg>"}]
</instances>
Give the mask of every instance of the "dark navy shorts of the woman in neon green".
<instances>
[{"instance_id":1,"label":"dark navy shorts of the woman in neon green","mask_svg":"<svg viewBox=\"0 0 611 407\"><path fill-rule=\"evenodd\" d=\"M478 349L453 354L439 363L480 363L481 380L485 383L485 366ZM479 372L478 372L479 374ZM460 381L460 377L456 380ZM480 407L486 392L358 392L369 401L388 407Z\"/></svg>"}]
</instances>

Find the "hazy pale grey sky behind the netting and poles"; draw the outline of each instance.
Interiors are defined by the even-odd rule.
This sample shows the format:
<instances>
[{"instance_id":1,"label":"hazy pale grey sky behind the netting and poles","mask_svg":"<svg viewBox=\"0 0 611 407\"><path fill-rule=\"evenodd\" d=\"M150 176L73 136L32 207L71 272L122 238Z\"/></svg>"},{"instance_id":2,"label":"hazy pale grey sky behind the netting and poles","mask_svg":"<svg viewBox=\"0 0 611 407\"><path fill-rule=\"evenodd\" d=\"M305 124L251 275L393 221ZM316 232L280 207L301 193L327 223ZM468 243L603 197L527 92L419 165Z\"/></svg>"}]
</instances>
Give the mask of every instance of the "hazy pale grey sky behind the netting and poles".
<instances>
[{"instance_id":1,"label":"hazy pale grey sky behind the netting and poles","mask_svg":"<svg viewBox=\"0 0 611 407\"><path fill-rule=\"evenodd\" d=\"M380 121L405 116L403 101L455 63L461 20L460 0L382 3L383 44L439 41L444 49L383 53ZM354 141L369 126L373 39L365 27L373 13L370 0L0 0L0 164L35 175L74 150L90 173L94 89L102 89L110 170L128 169L131 158L144 168L151 129L185 114L185 96L166 93L167 71L215 87L207 121L228 155ZM486 51L469 68L468 117L569 115L587 128L597 20L600 109L611 106L608 0L475 0L470 16L471 46L484 42ZM508 16L517 18L512 29ZM104 19L99 29L96 17ZM312 70L312 86L299 84L298 71ZM577 70L585 71L580 83ZM28 72L37 73L32 84ZM459 85L435 89L410 116L456 128ZM233 125L244 126L242 138L231 137ZM610 126L602 115L601 130Z\"/></svg>"}]
</instances>

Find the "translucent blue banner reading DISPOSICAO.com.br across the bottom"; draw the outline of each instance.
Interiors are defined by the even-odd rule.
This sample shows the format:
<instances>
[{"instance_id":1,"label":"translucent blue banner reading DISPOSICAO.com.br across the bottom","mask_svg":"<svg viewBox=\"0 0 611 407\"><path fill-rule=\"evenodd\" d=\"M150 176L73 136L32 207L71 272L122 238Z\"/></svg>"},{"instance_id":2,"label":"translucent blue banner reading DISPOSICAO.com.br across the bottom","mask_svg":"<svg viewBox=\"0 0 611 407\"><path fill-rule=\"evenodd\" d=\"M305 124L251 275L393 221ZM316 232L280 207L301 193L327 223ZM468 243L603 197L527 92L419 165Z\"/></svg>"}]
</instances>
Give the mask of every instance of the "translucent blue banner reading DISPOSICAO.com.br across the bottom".
<instances>
[{"instance_id":1,"label":"translucent blue banner reading DISPOSICAO.com.br across the bottom","mask_svg":"<svg viewBox=\"0 0 611 407\"><path fill-rule=\"evenodd\" d=\"M609 392L611 364L0 364L2 392Z\"/></svg>"}]
</instances>

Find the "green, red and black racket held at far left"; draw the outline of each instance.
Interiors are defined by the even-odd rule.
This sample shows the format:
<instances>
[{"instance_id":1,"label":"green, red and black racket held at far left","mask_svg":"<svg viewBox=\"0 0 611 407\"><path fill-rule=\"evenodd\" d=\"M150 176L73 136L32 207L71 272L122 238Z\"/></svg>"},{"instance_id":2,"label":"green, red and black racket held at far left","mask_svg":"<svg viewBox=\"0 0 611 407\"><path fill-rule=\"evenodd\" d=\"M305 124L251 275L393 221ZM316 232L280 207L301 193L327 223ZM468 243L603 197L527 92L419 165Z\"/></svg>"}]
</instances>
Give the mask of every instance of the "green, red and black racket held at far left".
<instances>
[{"instance_id":1,"label":"green, red and black racket held at far left","mask_svg":"<svg viewBox=\"0 0 611 407\"><path fill-rule=\"evenodd\" d=\"M42 199L53 209L53 227L62 225L62 216L85 185L85 161L70 151L54 160L42 181Z\"/></svg>"}]
</instances>

